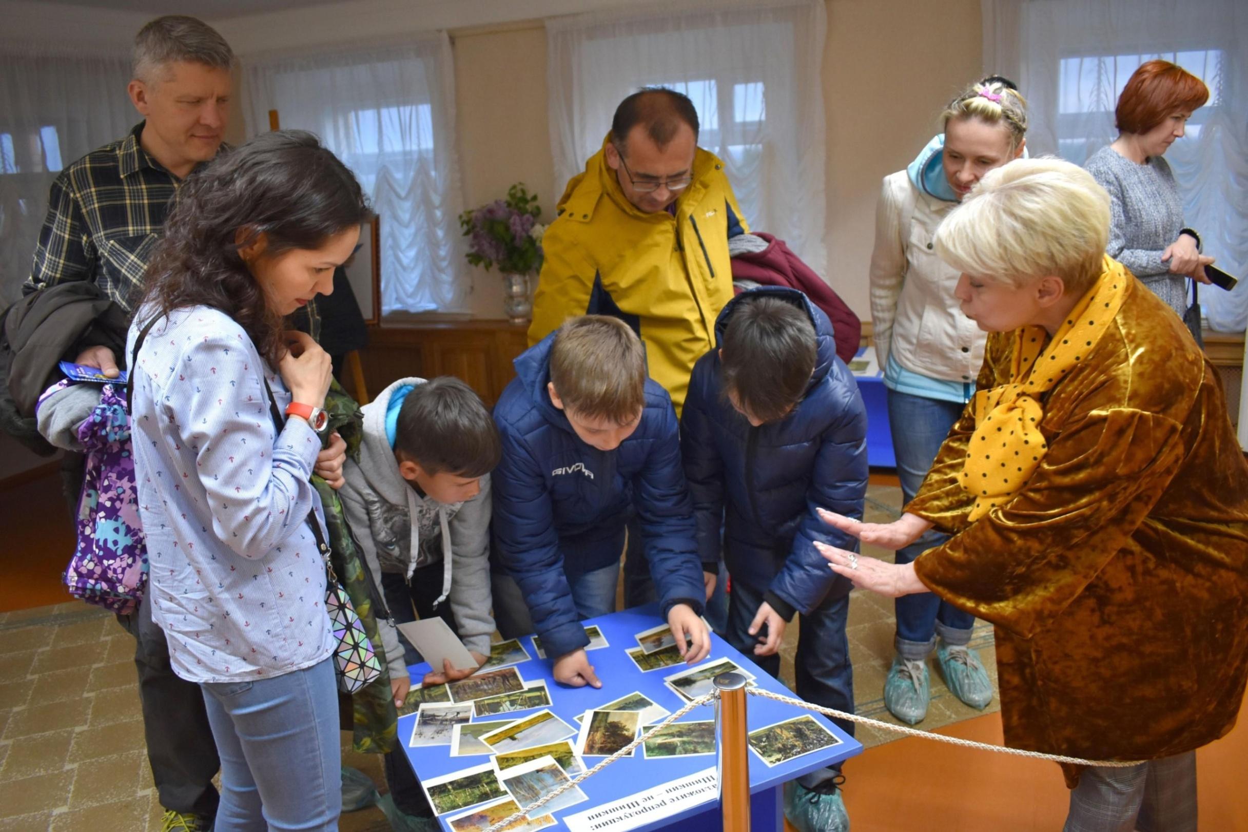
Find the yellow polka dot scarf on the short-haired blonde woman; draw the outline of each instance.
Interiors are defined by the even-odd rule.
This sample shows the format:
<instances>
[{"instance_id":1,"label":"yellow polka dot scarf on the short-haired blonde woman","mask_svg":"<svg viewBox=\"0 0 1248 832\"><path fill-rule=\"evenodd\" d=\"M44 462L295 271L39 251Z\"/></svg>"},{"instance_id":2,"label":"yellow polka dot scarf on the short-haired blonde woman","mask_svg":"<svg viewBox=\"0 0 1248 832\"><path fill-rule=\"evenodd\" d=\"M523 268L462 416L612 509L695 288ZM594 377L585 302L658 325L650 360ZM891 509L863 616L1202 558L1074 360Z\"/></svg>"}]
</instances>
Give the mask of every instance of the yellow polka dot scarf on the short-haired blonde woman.
<instances>
[{"instance_id":1,"label":"yellow polka dot scarf on the short-haired blonde woman","mask_svg":"<svg viewBox=\"0 0 1248 832\"><path fill-rule=\"evenodd\" d=\"M975 394L975 433L962 469L962 488L972 494L971 521L1008 503L1048 452L1040 432L1045 410L1040 397L1060 382L1108 329L1122 306L1128 273L1104 258L1101 277L1075 304L1066 323L1047 344L1043 327L1015 332L1008 384Z\"/></svg>"}]
</instances>

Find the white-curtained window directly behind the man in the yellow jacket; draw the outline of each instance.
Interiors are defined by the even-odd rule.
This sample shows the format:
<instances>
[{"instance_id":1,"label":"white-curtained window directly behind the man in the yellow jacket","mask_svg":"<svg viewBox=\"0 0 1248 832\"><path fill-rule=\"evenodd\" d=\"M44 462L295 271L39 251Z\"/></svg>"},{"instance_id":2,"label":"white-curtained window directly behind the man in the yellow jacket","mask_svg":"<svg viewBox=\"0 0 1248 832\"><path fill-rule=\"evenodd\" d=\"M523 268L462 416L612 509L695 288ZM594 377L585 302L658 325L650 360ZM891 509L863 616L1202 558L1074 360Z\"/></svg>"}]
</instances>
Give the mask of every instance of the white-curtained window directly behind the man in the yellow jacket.
<instances>
[{"instance_id":1,"label":"white-curtained window directly behind the man in the yellow jacket","mask_svg":"<svg viewBox=\"0 0 1248 832\"><path fill-rule=\"evenodd\" d=\"M750 227L822 273L824 0L670 6L547 21L555 176L584 170L617 105L643 86L689 96L698 145L724 160Z\"/></svg>"}]
</instances>

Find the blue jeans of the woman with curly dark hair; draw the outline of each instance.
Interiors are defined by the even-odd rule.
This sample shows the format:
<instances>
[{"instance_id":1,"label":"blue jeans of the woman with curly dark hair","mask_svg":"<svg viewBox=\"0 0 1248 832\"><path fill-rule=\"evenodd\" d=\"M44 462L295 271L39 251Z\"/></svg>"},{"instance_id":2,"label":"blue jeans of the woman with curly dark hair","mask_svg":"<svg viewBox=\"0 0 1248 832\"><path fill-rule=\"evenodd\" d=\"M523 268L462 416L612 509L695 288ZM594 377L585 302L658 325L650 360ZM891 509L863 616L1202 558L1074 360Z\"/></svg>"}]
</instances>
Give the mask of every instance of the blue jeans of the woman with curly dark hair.
<instances>
[{"instance_id":1,"label":"blue jeans of the woman with curly dark hair","mask_svg":"<svg viewBox=\"0 0 1248 832\"><path fill-rule=\"evenodd\" d=\"M336 832L342 752L333 660L270 679L200 687L221 755L213 830Z\"/></svg>"}]
</instances>

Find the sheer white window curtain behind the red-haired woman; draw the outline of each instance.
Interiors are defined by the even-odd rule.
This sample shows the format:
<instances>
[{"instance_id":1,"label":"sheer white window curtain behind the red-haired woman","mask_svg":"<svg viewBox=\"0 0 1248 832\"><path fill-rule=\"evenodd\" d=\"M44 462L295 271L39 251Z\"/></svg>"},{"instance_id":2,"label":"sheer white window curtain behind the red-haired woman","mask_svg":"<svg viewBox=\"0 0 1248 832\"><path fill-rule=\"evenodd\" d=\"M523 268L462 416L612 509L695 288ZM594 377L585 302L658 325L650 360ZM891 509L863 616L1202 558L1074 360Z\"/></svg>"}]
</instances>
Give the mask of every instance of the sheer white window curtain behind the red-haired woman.
<instances>
[{"instance_id":1,"label":"sheer white window curtain behind the red-haired woman","mask_svg":"<svg viewBox=\"0 0 1248 832\"><path fill-rule=\"evenodd\" d=\"M1166 153L1187 225L1204 251L1248 278L1248 4L1243 0L983 0L985 69L1018 81L1031 105L1027 145L1082 165L1117 137L1113 109L1144 61L1174 61L1209 102ZM1201 287L1213 329L1248 323L1248 279Z\"/></svg>"}]
</instances>

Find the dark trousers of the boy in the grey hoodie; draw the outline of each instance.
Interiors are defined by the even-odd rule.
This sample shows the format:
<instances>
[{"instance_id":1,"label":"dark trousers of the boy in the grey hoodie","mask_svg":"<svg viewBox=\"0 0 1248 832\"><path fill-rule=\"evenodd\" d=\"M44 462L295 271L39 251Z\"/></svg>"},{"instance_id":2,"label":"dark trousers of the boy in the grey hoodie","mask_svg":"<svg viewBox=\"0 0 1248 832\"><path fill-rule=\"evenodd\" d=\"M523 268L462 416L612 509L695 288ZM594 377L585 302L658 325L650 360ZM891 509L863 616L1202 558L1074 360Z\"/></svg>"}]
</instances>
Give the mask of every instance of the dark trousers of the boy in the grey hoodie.
<instances>
[{"instance_id":1,"label":"dark trousers of the boy in the grey hoodie","mask_svg":"<svg viewBox=\"0 0 1248 832\"><path fill-rule=\"evenodd\" d=\"M447 599L442 604L438 604L437 610L433 609L433 602L442 595L442 576L441 561L417 569L412 573L411 581L396 573L382 573L382 595L386 596L386 606L389 607L391 615L394 616L394 622L407 624L408 621L416 621L418 616L421 619L429 619L437 615L458 636L459 630L456 627L456 617L451 612L451 600ZM411 666L424 661L421 657L421 652L407 639L399 636L398 640L403 645L403 664ZM419 679L412 680L413 687L418 687L419 685ZM399 742L402 742L402 738L399 738ZM417 778L416 772L412 771L412 763L408 762L407 755L402 748L396 748L384 755L383 766L386 768L386 782L389 783L394 806L404 815L433 817L433 808L424 797L421 781Z\"/></svg>"}]
</instances>

